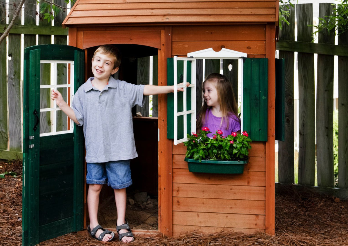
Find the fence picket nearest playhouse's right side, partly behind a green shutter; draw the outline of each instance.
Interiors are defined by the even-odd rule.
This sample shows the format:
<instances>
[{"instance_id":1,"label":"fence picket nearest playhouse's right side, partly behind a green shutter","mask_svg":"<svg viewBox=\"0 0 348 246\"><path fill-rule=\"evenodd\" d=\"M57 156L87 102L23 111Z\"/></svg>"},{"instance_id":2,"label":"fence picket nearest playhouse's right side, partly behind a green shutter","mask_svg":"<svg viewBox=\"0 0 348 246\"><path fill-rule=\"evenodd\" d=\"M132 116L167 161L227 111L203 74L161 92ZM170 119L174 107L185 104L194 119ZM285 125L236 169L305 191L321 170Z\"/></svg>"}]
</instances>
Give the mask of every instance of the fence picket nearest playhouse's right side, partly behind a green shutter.
<instances>
[{"instance_id":1,"label":"fence picket nearest playhouse's right side, partly behind a green shutter","mask_svg":"<svg viewBox=\"0 0 348 246\"><path fill-rule=\"evenodd\" d=\"M290 25L282 25L279 40L295 40L295 8L289 6ZM285 141L278 142L278 181L294 183L294 52L279 51L285 59Z\"/></svg>"}]
</instances>

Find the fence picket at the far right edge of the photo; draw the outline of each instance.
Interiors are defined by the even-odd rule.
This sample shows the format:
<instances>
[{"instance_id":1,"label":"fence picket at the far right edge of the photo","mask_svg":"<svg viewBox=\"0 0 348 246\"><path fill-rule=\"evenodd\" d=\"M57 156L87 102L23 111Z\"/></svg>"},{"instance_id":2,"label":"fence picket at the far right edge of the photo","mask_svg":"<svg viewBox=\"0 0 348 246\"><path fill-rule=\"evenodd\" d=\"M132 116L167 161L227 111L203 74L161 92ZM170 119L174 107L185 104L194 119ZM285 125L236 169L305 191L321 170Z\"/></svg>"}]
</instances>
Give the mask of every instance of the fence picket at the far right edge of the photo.
<instances>
[{"instance_id":1,"label":"fence picket at the far right edge of the photo","mask_svg":"<svg viewBox=\"0 0 348 246\"><path fill-rule=\"evenodd\" d=\"M338 35L348 45L348 32ZM338 187L348 188L348 57L338 57Z\"/></svg>"}]
</instances>

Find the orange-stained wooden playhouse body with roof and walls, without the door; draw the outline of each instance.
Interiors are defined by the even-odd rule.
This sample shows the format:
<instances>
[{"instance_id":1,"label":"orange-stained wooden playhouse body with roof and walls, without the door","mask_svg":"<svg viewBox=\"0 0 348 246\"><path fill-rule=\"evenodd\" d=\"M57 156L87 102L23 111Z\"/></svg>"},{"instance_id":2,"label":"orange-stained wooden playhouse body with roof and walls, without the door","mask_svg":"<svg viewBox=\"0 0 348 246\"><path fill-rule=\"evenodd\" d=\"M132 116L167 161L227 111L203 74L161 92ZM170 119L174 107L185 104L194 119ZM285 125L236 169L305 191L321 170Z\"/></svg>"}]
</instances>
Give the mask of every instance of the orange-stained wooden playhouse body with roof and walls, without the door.
<instances>
[{"instance_id":1,"label":"orange-stained wooden playhouse body with roof and walls, without the door","mask_svg":"<svg viewBox=\"0 0 348 246\"><path fill-rule=\"evenodd\" d=\"M252 91L258 86L254 81L266 74L268 86L260 85L263 89L266 87L266 97L261 95L256 106L243 107L242 114L257 108L251 113L250 129L245 129L247 120L243 123L243 130L251 132L253 140L243 174L189 172L184 162L185 146L174 145L173 140L167 138L167 121L170 120L167 95L158 96L159 232L179 235L185 231L218 232L223 229L274 234L277 23L277 0L103 0L98 3L78 0L63 22L63 27L69 27L69 45L85 50L85 79L91 76L91 56L102 44L118 45L123 57L158 56L159 85L167 84L167 58L187 57L190 52L208 48L217 52L225 48L246 53L247 58L268 59L266 66L261 66L249 82ZM130 76L136 74L135 67L127 60L122 60L121 64L119 78L132 82ZM257 70L254 67L250 73L254 73L252 69ZM251 96L250 100L256 99ZM144 124L141 118L137 121L140 123L134 123L136 139L137 128ZM157 127L157 118L144 118L143 121L155 121L151 124ZM254 136L253 132L256 132ZM150 137L142 141L138 152L153 149L147 147ZM156 157L155 153L155 158L145 165L157 164Z\"/></svg>"}]
</instances>

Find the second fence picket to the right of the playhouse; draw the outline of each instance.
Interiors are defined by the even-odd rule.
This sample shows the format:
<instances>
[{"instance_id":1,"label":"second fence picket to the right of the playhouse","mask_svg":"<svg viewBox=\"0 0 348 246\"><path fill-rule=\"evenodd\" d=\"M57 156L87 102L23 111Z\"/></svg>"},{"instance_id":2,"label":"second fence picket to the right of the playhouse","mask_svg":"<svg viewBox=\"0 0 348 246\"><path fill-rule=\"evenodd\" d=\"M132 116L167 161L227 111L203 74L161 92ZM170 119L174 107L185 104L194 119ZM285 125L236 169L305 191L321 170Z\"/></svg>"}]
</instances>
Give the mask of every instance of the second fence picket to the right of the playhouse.
<instances>
[{"instance_id":1,"label":"second fence picket to the right of the playhouse","mask_svg":"<svg viewBox=\"0 0 348 246\"><path fill-rule=\"evenodd\" d=\"M298 4L297 40L311 42L313 4ZM299 184L314 186L315 175L315 87L314 54L298 53L299 69Z\"/></svg>"}]
</instances>

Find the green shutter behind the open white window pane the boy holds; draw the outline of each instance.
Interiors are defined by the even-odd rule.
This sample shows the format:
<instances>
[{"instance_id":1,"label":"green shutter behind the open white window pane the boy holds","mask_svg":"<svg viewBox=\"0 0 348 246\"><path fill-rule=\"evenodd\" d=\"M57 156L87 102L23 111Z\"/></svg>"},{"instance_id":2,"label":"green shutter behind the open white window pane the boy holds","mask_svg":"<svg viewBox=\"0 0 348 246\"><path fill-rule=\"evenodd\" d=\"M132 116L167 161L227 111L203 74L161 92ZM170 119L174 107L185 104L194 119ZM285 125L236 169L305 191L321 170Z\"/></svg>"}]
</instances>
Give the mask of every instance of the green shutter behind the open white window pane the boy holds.
<instances>
[{"instance_id":1,"label":"green shutter behind the open white window pane the boy holds","mask_svg":"<svg viewBox=\"0 0 348 246\"><path fill-rule=\"evenodd\" d=\"M191 83L191 62L177 61L177 80L178 83L183 83L183 64L187 63L187 81ZM174 85L174 58L167 59L167 85ZM191 110L191 88L187 88L187 110ZM177 95L177 110L183 111L183 92L178 92ZM177 138L182 139L184 129L183 115L178 117ZM191 117L187 115L187 133L191 133ZM174 93L169 93L167 96L167 138L174 139Z\"/></svg>"}]
</instances>

